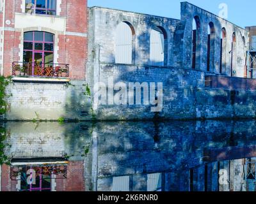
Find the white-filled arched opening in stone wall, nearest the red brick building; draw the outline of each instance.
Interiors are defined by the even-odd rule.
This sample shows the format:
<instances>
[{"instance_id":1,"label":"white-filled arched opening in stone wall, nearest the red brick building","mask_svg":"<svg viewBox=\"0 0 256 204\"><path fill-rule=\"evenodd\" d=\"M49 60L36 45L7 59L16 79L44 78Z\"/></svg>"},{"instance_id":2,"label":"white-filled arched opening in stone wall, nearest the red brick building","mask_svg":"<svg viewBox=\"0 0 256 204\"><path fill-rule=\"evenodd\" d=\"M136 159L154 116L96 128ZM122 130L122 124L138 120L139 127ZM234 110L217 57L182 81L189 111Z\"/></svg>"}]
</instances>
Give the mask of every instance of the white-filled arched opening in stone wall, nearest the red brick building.
<instances>
[{"instance_id":1,"label":"white-filled arched opening in stone wall, nearest the red brick building","mask_svg":"<svg viewBox=\"0 0 256 204\"><path fill-rule=\"evenodd\" d=\"M121 22L116 29L115 62L117 64L132 64L134 56L134 28L128 22Z\"/></svg>"}]
</instances>

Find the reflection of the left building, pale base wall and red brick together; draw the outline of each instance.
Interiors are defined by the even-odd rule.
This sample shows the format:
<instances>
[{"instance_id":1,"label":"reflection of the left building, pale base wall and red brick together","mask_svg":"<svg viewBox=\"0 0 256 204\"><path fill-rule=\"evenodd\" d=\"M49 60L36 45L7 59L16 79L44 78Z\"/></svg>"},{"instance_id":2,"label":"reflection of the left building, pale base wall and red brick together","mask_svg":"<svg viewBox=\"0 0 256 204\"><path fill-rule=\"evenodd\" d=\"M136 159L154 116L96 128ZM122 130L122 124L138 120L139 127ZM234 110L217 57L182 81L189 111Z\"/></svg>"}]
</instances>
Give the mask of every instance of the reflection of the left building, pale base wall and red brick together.
<instances>
[{"instance_id":1,"label":"reflection of the left building, pale base wall and red brick together","mask_svg":"<svg viewBox=\"0 0 256 204\"><path fill-rule=\"evenodd\" d=\"M75 144L81 138L76 135L77 140L70 142L72 128L8 122L6 143L10 146L6 145L5 152L12 163L1 166L1 191L85 191L83 158L72 150L81 149ZM31 178L35 183L29 183Z\"/></svg>"}]
</instances>

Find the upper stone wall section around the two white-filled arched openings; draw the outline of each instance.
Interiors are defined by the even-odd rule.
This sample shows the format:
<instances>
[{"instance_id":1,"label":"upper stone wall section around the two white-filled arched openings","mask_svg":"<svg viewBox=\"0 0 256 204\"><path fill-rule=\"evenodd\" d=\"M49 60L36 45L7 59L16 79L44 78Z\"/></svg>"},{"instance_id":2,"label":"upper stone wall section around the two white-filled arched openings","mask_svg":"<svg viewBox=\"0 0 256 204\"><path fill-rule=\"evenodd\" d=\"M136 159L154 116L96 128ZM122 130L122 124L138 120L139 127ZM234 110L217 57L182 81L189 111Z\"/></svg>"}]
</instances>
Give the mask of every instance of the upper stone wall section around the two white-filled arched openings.
<instances>
[{"instance_id":1,"label":"upper stone wall section around the two white-filled arched openings","mask_svg":"<svg viewBox=\"0 0 256 204\"><path fill-rule=\"evenodd\" d=\"M116 27L120 22L129 22L135 31L134 65L150 66L150 32L157 26L161 26L168 35L167 65L172 66L173 34L179 20L97 7L90 8L89 12L89 61L93 61L92 55L95 55L95 52L98 52L98 50L95 50L95 47L100 46L99 61L104 63L115 63L114 49Z\"/></svg>"}]
</instances>

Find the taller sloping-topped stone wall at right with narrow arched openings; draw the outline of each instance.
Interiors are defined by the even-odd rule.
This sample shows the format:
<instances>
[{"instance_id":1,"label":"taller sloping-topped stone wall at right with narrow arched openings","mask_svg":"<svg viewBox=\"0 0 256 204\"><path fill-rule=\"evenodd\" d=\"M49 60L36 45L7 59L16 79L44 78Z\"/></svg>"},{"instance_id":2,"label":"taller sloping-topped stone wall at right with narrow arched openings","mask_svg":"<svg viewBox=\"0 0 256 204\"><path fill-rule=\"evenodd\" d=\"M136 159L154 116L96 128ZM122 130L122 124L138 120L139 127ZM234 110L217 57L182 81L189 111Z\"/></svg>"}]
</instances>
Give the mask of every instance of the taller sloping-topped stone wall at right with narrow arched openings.
<instances>
[{"instance_id":1,"label":"taller sloping-topped stone wall at right with narrow arched openings","mask_svg":"<svg viewBox=\"0 0 256 204\"><path fill-rule=\"evenodd\" d=\"M180 55L176 59L180 64L180 61L183 62L184 67L191 67L191 54L192 54L192 22L193 18L198 16L200 18L200 29L198 37L200 38L200 44L197 47L198 59L196 59L196 68L207 71L207 32L209 23L214 24L214 43L211 45L214 47L214 51L211 53L212 62L210 62L211 67L210 71L212 73L220 73L220 36L221 29L225 27L227 31L227 36L225 38L226 47L223 50L223 55L225 55L225 61L223 61L223 74L230 76L230 64L231 64L231 54L229 53L232 50L232 34L236 33L236 49L234 51L234 61L233 61L233 71L236 73L233 76L244 77L244 65L246 63L246 50L248 50L249 45L249 36L248 31L245 31L243 28L238 27L227 20L224 20L208 11L202 10L197 6L189 3L181 3L181 20L179 25L179 32L182 32L182 38L176 39L175 43L180 44L182 50L180 50ZM178 33L179 34L179 33ZM243 37L244 40L243 41ZM182 39L184 41L182 41ZM224 41L224 40L223 40ZM178 48L180 48L178 47ZM177 51L176 51L177 52ZM178 53L178 52L177 52ZM180 58L180 61L179 61Z\"/></svg>"}]
</instances>

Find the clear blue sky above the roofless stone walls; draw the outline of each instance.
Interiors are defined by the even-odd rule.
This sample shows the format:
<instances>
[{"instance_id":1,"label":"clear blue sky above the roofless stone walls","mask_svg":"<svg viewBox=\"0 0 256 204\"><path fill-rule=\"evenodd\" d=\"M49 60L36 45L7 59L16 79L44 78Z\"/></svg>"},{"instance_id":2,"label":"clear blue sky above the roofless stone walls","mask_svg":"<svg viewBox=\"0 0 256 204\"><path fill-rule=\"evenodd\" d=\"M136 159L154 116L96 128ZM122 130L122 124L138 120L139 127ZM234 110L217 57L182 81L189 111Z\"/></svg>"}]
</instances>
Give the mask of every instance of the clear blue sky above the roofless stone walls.
<instances>
[{"instance_id":1,"label":"clear blue sky above the roofless stone walls","mask_svg":"<svg viewBox=\"0 0 256 204\"><path fill-rule=\"evenodd\" d=\"M225 3L228 6L227 20L241 27L256 25L255 0L190 0L188 2L217 15L220 11L219 5ZM88 6L102 6L180 19L179 0L88 0Z\"/></svg>"}]
</instances>

